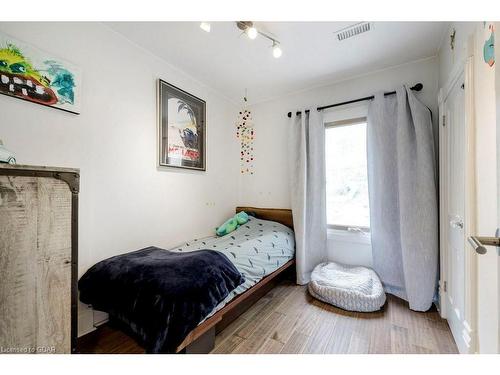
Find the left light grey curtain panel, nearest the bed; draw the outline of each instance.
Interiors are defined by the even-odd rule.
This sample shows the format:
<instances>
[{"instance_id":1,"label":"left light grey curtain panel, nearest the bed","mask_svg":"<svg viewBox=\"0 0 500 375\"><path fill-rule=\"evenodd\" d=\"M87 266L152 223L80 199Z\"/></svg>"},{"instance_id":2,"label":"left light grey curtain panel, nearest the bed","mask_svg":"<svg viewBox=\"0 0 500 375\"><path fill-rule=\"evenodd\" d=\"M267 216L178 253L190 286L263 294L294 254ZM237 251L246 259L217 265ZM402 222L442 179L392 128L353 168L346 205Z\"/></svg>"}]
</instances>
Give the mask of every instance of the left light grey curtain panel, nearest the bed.
<instances>
[{"instance_id":1,"label":"left light grey curtain panel, nearest the bed","mask_svg":"<svg viewBox=\"0 0 500 375\"><path fill-rule=\"evenodd\" d=\"M325 128L316 109L302 111L289 125L297 283L307 284L313 268L327 259Z\"/></svg>"}]
</instances>

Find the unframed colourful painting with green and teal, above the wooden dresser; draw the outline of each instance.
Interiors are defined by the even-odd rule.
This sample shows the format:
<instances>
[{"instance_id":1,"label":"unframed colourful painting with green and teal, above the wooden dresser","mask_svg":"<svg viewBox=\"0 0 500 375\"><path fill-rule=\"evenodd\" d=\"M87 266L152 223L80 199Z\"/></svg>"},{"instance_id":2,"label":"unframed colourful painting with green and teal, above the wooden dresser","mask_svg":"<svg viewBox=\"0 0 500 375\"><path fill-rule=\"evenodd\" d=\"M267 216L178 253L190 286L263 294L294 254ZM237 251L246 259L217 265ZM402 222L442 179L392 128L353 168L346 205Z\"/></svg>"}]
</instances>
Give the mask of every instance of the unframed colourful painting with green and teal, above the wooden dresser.
<instances>
[{"instance_id":1,"label":"unframed colourful painting with green and teal, above the wooden dresser","mask_svg":"<svg viewBox=\"0 0 500 375\"><path fill-rule=\"evenodd\" d=\"M0 94L80 113L80 69L0 33Z\"/></svg>"}]
</instances>

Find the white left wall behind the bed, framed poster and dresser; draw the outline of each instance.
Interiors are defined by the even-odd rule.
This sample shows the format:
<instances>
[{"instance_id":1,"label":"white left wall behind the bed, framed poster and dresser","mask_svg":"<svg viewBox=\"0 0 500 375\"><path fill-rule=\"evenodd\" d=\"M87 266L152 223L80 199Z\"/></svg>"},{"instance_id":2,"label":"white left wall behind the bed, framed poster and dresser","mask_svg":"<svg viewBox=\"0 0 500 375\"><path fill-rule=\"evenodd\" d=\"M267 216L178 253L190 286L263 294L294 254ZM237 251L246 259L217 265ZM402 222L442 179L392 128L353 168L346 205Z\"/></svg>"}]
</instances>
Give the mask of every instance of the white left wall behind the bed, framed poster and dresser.
<instances>
[{"instance_id":1,"label":"white left wall behind the bed, framed poster and dresser","mask_svg":"<svg viewBox=\"0 0 500 375\"><path fill-rule=\"evenodd\" d=\"M0 95L20 164L80 168L79 275L106 257L211 233L238 203L237 108L99 23L0 23L83 70L80 115ZM173 51L175 53L175 51ZM207 172L157 170L156 80L207 102ZM92 315L81 310L80 332Z\"/></svg>"}]
</instances>

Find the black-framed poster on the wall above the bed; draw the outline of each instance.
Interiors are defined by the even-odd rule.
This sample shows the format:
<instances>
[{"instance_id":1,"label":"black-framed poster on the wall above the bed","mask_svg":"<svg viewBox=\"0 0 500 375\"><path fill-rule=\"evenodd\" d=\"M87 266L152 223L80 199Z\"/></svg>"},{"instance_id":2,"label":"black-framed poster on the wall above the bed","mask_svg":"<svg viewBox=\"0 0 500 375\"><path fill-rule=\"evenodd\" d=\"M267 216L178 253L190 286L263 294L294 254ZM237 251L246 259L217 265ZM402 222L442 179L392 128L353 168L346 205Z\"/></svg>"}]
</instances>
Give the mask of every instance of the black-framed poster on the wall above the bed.
<instances>
[{"instance_id":1,"label":"black-framed poster on the wall above the bed","mask_svg":"<svg viewBox=\"0 0 500 375\"><path fill-rule=\"evenodd\" d=\"M206 171L206 102L158 79L158 166Z\"/></svg>"}]
</instances>

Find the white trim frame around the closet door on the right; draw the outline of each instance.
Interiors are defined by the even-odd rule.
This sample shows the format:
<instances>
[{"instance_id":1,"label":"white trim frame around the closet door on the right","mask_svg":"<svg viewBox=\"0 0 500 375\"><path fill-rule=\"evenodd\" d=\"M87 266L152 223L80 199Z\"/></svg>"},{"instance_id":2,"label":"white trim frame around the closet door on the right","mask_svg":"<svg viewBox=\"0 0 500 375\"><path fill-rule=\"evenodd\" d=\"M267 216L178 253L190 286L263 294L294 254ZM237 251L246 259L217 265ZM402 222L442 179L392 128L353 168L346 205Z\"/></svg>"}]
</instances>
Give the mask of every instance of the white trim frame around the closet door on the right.
<instances>
[{"instance_id":1,"label":"white trim frame around the closet door on the right","mask_svg":"<svg viewBox=\"0 0 500 375\"><path fill-rule=\"evenodd\" d=\"M449 225L448 225L448 173L449 173L449 135L445 121L445 102L460 77L464 77L465 94L465 214L464 214L464 318L463 327L453 333L461 353L477 352L477 258L466 239L476 230L475 198L475 113L474 113L474 35L466 46L467 57L455 64L450 79L439 90L439 244L440 280L439 312L447 318L447 285L449 285Z\"/></svg>"}]
</instances>

